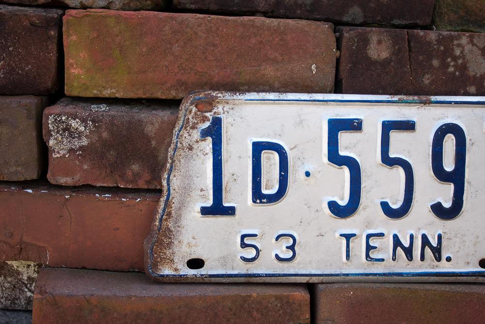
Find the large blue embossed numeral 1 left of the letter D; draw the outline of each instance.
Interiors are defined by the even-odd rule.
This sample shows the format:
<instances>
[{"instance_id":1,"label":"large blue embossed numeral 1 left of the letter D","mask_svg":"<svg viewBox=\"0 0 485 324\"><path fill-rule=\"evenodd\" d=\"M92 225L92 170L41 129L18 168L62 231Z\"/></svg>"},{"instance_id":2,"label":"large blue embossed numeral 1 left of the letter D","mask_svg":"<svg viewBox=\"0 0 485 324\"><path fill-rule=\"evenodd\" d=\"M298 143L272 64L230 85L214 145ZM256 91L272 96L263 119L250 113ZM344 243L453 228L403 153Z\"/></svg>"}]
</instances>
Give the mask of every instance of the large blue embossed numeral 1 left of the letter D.
<instances>
[{"instance_id":1,"label":"large blue embossed numeral 1 left of the letter D","mask_svg":"<svg viewBox=\"0 0 485 324\"><path fill-rule=\"evenodd\" d=\"M234 216L236 206L226 206L223 202L223 149L222 149L222 117L214 116L209 126L200 130L200 138L212 139L212 204L201 206L202 216Z\"/></svg>"}]
</instances>

